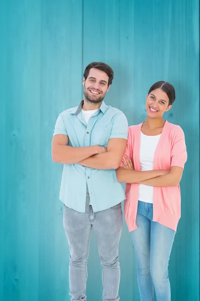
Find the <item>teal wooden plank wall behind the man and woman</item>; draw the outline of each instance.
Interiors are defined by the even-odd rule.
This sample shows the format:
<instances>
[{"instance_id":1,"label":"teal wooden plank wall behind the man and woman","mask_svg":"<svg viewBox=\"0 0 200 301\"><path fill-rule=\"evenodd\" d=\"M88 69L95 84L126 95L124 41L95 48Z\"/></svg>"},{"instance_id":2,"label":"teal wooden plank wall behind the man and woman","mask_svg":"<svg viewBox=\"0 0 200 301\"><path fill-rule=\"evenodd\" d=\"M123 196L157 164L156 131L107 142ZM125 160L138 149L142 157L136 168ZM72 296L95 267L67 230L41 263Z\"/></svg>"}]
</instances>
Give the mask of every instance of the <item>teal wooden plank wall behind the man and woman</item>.
<instances>
[{"instance_id":1,"label":"teal wooden plank wall behind the man and woman","mask_svg":"<svg viewBox=\"0 0 200 301\"><path fill-rule=\"evenodd\" d=\"M170 259L172 301L199 299L199 4L197 0L3 0L0 2L0 300L69 300L69 250L59 201L62 166L51 160L59 113L82 99L91 61L115 72L106 103L129 125L145 118L148 88L172 83L166 115L184 132L188 161L182 217ZM120 242L121 300L139 301L132 243ZM100 301L92 235L88 300Z\"/></svg>"}]
</instances>

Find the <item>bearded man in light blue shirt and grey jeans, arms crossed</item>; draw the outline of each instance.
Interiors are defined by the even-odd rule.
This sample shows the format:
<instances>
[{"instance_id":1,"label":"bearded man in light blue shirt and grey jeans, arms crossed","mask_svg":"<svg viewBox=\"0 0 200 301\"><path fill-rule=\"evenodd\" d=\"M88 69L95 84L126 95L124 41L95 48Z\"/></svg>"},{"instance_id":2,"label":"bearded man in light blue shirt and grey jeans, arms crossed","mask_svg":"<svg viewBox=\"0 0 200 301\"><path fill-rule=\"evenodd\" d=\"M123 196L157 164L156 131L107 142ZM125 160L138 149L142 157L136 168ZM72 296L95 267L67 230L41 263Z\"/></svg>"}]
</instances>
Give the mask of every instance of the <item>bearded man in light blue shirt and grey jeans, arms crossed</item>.
<instances>
[{"instance_id":1,"label":"bearded man in light blue shirt and grey jeans, arms crossed","mask_svg":"<svg viewBox=\"0 0 200 301\"><path fill-rule=\"evenodd\" d=\"M64 164L60 200L70 247L71 300L86 300L89 240L94 228L103 266L103 301L119 300L118 246L124 191L116 178L127 144L128 124L118 109L103 99L113 70L91 63L84 72L84 100L57 119L52 140L54 162Z\"/></svg>"}]
</instances>

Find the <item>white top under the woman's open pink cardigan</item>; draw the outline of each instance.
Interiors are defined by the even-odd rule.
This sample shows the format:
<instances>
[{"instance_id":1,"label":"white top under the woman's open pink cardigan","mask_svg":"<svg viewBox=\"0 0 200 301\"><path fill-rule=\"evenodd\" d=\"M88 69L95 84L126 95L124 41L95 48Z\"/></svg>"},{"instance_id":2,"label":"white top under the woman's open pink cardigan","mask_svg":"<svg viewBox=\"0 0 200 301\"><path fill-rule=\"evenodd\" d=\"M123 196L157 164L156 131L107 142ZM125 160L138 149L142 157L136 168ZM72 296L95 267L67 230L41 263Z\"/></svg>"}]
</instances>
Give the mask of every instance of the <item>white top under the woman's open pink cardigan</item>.
<instances>
[{"instance_id":1,"label":"white top under the woman's open pink cardigan","mask_svg":"<svg viewBox=\"0 0 200 301\"><path fill-rule=\"evenodd\" d=\"M147 136L141 132L140 142L140 167L141 171L153 170L153 159L155 149L160 139L160 135ZM139 185L139 201L153 203L153 186Z\"/></svg>"}]
</instances>

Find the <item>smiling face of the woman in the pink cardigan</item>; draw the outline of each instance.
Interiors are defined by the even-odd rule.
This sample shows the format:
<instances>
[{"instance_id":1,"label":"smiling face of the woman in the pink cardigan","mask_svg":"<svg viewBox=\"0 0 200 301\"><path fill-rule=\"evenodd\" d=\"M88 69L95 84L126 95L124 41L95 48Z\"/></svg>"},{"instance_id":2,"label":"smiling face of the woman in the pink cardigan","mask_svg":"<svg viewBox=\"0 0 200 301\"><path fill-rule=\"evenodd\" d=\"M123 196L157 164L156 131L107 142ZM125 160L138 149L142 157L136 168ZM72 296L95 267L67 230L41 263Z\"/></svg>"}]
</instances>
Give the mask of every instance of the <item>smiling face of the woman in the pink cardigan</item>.
<instances>
[{"instance_id":1,"label":"smiling face of the woman in the pink cardigan","mask_svg":"<svg viewBox=\"0 0 200 301\"><path fill-rule=\"evenodd\" d=\"M146 113L151 118L162 118L164 112L171 108L167 94L161 89L155 89L146 95Z\"/></svg>"}]
</instances>

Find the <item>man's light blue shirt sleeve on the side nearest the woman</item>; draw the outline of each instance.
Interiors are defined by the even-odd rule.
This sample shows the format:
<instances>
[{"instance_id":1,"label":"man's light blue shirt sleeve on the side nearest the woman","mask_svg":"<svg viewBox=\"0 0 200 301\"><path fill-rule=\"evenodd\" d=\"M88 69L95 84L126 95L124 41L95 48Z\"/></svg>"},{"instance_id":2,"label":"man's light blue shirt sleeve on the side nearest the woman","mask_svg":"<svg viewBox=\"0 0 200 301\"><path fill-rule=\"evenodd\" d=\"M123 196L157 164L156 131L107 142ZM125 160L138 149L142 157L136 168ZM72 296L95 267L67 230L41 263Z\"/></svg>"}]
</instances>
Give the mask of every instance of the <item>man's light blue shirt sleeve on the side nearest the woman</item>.
<instances>
[{"instance_id":1,"label":"man's light blue shirt sleeve on the side nearest the woman","mask_svg":"<svg viewBox=\"0 0 200 301\"><path fill-rule=\"evenodd\" d=\"M124 138L128 136L128 121L126 116L121 112L113 122L110 138Z\"/></svg>"}]
</instances>

